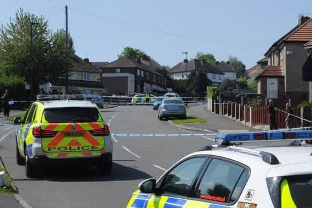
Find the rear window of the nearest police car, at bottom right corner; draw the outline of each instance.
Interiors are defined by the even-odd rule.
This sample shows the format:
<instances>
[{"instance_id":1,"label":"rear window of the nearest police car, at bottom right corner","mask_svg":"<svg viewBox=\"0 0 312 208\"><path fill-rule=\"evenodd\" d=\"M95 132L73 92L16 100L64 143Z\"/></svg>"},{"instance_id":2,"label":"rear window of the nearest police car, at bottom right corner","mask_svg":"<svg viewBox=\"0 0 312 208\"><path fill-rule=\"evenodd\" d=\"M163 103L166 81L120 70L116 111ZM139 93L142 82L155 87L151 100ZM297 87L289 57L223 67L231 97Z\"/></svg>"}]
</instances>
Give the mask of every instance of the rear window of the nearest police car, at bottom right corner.
<instances>
[{"instance_id":1,"label":"rear window of the nearest police car, at bottom right corner","mask_svg":"<svg viewBox=\"0 0 312 208\"><path fill-rule=\"evenodd\" d=\"M292 201L296 207L311 208L312 174L288 176L284 178L282 184L286 182L288 183Z\"/></svg>"}]
</instances>

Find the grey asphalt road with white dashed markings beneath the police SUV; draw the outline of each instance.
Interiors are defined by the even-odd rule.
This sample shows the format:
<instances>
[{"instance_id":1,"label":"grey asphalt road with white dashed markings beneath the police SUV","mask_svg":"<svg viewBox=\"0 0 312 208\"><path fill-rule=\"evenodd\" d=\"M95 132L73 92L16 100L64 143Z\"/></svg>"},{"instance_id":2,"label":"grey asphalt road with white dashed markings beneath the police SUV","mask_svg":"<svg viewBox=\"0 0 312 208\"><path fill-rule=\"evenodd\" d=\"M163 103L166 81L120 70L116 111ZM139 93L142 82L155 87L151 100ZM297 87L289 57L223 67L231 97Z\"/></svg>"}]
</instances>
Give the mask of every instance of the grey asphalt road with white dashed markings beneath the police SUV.
<instances>
[{"instance_id":1,"label":"grey asphalt road with white dashed markings beneath the police SUV","mask_svg":"<svg viewBox=\"0 0 312 208\"><path fill-rule=\"evenodd\" d=\"M102 113L114 133L188 133L157 120L151 106L121 106ZM212 143L208 136L115 136L110 176L99 176L92 166L70 166L30 179L24 166L16 164L15 128L0 126L0 155L20 196L33 208L123 208L143 179L158 178L181 157Z\"/></svg>"}]
</instances>

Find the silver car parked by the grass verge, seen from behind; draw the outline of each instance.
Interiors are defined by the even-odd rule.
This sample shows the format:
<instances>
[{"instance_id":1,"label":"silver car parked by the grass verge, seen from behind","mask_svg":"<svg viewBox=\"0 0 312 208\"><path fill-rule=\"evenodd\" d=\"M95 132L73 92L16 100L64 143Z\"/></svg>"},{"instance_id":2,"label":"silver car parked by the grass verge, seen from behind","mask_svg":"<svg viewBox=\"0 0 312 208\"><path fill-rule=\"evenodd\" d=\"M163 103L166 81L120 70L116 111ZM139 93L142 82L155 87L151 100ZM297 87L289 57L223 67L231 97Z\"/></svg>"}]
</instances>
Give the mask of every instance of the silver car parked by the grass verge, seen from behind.
<instances>
[{"instance_id":1,"label":"silver car parked by the grass verge, seen from behind","mask_svg":"<svg viewBox=\"0 0 312 208\"><path fill-rule=\"evenodd\" d=\"M182 99L165 98L158 108L158 119L169 117L186 118L186 109Z\"/></svg>"}]
</instances>

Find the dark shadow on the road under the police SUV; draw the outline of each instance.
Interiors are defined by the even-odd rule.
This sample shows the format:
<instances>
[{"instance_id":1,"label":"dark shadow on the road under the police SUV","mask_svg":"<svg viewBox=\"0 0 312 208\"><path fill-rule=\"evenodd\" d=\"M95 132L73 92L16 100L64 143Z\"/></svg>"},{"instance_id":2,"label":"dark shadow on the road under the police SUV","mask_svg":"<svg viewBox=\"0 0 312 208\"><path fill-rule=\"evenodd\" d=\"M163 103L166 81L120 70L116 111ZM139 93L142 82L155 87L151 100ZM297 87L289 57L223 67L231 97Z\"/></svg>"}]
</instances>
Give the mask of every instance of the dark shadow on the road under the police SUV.
<instances>
[{"instance_id":1,"label":"dark shadow on the road under the police SUV","mask_svg":"<svg viewBox=\"0 0 312 208\"><path fill-rule=\"evenodd\" d=\"M13 179L13 181L60 181L60 182L84 182L84 181L127 181L143 180L152 178L151 175L136 169L134 166L123 166L113 164L110 175L102 176L98 174L96 166L92 165L70 165L49 167L44 169L42 178Z\"/></svg>"}]
</instances>

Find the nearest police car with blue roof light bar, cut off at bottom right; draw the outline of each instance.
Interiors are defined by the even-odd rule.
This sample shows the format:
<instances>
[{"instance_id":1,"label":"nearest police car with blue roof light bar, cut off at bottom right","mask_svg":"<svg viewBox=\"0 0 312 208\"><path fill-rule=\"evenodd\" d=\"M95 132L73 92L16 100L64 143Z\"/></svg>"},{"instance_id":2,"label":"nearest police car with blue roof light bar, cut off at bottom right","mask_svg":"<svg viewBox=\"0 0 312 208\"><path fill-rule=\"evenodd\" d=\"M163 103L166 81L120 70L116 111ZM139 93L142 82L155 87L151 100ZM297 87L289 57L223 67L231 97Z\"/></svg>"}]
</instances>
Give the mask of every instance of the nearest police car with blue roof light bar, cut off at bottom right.
<instances>
[{"instance_id":1,"label":"nearest police car with blue roof light bar, cut off at bottom right","mask_svg":"<svg viewBox=\"0 0 312 208\"><path fill-rule=\"evenodd\" d=\"M312 131L217 134L225 146L207 146L143 181L127 208L311 208L312 147L304 137ZM261 140L284 144L233 145Z\"/></svg>"}]
</instances>

